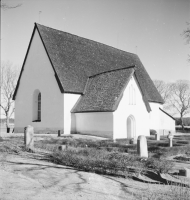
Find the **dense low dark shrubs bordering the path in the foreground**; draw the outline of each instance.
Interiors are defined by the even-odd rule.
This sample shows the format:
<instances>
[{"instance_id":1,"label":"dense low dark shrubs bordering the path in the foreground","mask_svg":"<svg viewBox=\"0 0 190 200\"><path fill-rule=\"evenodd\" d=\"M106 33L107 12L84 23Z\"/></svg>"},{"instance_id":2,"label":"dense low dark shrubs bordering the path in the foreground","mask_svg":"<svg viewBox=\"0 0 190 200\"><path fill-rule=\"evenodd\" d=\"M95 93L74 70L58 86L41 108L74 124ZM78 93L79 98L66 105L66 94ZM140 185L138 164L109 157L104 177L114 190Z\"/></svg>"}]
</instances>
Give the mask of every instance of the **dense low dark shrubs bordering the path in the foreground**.
<instances>
[{"instance_id":1,"label":"dense low dark shrubs bordering the path in the foreground","mask_svg":"<svg viewBox=\"0 0 190 200\"><path fill-rule=\"evenodd\" d=\"M94 148L69 147L66 151L52 152L49 158L59 164L103 174L126 175L130 168L142 171L144 167L138 156Z\"/></svg>"}]
</instances>

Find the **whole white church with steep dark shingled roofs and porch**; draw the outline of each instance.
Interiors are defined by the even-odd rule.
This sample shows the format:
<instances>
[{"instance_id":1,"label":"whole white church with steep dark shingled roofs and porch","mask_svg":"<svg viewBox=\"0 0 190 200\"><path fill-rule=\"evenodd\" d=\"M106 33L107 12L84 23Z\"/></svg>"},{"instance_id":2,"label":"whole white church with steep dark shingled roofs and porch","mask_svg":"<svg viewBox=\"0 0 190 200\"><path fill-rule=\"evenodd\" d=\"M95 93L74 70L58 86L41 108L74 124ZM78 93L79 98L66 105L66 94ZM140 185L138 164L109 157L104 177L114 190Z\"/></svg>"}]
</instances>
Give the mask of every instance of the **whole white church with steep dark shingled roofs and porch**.
<instances>
[{"instance_id":1,"label":"whole white church with steep dark shingled roofs and porch","mask_svg":"<svg viewBox=\"0 0 190 200\"><path fill-rule=\"evenodd\" d=\"M175 130L137 55L36 23L13 99L17 133L32 125L117 139Z\"/></svg>"}]
</instances>

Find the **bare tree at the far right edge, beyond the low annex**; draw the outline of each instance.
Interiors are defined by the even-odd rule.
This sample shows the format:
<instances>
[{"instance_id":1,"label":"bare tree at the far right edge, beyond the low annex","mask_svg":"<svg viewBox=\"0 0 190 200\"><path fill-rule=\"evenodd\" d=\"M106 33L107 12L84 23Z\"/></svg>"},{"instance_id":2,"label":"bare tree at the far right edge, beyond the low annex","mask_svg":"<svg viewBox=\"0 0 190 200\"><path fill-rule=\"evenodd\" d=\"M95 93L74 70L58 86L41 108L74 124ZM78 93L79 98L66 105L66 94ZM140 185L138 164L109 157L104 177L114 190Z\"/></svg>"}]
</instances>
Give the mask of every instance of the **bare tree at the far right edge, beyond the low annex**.
<instances>
[{"instance_id":1,"label":"bare tree at the far right edge, beyond the low annex","mask_svg":"<svg viewBox=\"0 0 190 200\"><path fill-rule=\"evenodd\" d=\"M182 129L184 130L183 117L190 113L190 82L179 80L170 86L171 96L168 107L173 108L180 115Z\"/></svg>"}]
</instances>

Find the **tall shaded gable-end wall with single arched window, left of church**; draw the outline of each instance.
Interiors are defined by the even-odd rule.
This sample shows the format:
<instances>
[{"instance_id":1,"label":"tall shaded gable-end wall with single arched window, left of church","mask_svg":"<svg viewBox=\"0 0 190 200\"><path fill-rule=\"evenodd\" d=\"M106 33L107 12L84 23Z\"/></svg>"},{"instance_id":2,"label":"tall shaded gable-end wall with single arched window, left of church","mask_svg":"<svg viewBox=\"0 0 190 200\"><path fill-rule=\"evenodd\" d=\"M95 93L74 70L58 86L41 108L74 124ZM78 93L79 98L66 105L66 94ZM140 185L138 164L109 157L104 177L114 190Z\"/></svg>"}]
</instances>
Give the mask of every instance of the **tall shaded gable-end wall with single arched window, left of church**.
<instances>
[{"instance_id":1,"label":"tall shaded gable-end wall with single arched window, left of church","mask_svg":"<svg viewBox=\"0 0 190 200\"><path fill-rule=\"evenodd\" d=\"M41 122L32 122L33 93L41 92ZM28 124L35 131L63 131L63 94L39 34L35 31L26 59L15 101L15 132L23 132Z\"/></svg>"}]
</instances>

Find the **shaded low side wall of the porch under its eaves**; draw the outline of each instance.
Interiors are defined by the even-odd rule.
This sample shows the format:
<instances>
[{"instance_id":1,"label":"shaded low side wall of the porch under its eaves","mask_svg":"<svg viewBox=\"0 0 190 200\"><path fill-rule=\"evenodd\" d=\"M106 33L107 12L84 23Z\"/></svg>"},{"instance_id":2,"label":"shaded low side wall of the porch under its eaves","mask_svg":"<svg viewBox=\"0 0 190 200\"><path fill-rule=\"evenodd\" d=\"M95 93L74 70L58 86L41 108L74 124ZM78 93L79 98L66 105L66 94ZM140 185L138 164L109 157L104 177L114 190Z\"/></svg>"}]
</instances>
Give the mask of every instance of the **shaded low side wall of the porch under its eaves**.
<instances>
[{"instance_id":1,"label":"shaded low side wall of the porch under its eaves","mask_svg":"<svg viewBox=\"0 0 190 200\"><path fill-rule=\"evenodd\" d=\"M72 116L76 120L76 132L113 138L112 112L73 113Z\"/></svg>"}]
</instances>

